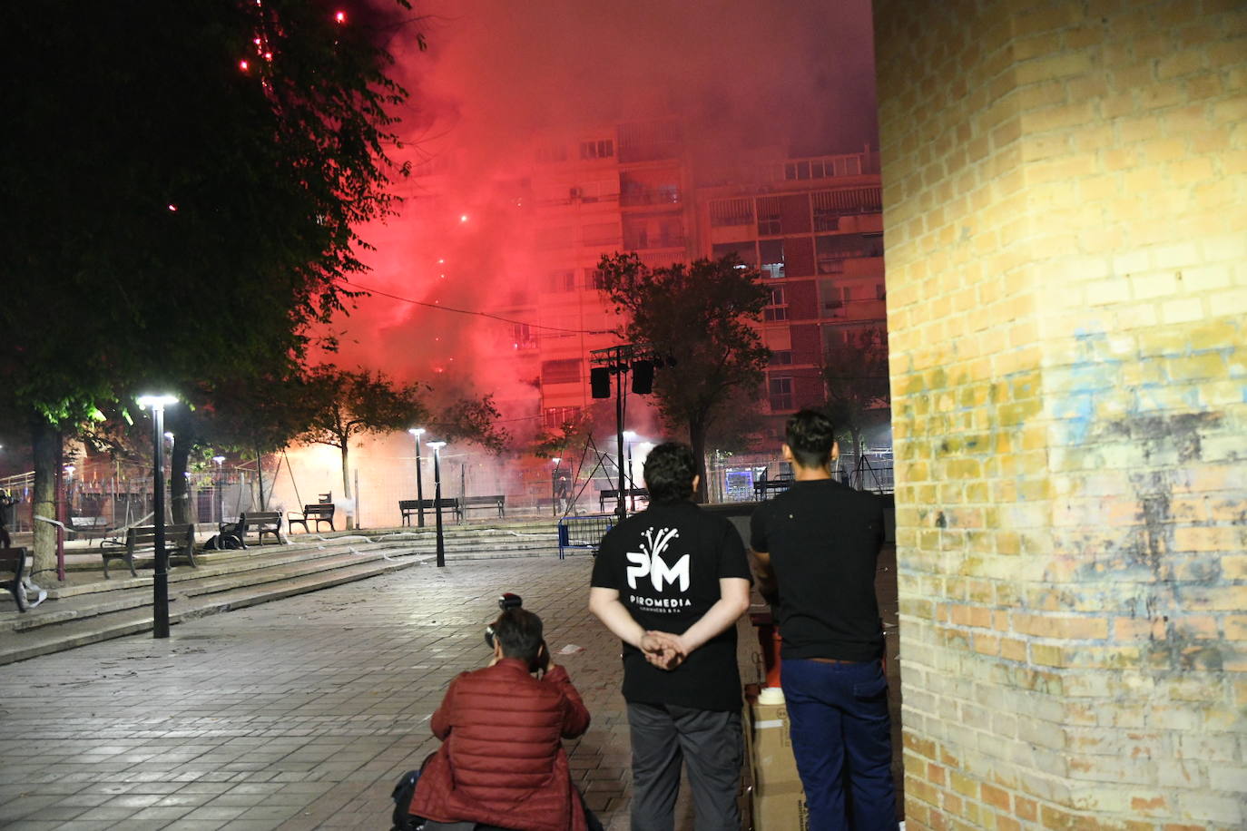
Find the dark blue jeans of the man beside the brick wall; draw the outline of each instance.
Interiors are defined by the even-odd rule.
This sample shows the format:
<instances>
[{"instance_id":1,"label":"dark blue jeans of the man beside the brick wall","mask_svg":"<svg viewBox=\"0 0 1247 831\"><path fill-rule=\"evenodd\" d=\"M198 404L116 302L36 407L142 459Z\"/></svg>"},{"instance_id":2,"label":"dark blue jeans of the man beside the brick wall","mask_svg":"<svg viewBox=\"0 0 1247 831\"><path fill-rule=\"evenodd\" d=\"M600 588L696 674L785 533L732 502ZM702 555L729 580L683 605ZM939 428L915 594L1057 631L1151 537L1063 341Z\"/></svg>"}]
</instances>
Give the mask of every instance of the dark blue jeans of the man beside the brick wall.
<instances>
[{"instance_id":1,"label":"dark blue jeans of the man beside the brick wall","mask_svg":"<svg viewBox=\"0 0 1247 831\"><path fill-rule=\"evenodd\" d=\"M888 679L882 663L784 659L779 678L809 831L895 831Z\"/></svg>"}]
</instances>

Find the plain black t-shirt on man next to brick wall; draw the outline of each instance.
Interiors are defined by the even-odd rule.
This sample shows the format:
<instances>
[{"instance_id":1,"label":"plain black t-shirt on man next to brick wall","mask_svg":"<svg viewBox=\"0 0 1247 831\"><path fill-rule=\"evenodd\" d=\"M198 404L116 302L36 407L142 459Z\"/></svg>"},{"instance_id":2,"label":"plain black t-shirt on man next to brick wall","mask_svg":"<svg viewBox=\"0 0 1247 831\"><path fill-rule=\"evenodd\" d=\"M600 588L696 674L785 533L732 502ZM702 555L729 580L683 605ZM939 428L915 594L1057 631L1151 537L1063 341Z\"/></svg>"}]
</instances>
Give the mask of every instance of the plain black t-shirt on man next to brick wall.
<instances>
[{"instance_id":1,"label":"plain black t-shirt on man next to brick wall","mask_svg":"<svg viewBox=\"0 0 1247 831\"><path fill-rule=\"evenodd\" d=\"M883 654L875 563L883 500L834 480L793 482L757 507L749 544L771 554L772 609L784 658L874 660Z\"/></svg>"}]
</instances>

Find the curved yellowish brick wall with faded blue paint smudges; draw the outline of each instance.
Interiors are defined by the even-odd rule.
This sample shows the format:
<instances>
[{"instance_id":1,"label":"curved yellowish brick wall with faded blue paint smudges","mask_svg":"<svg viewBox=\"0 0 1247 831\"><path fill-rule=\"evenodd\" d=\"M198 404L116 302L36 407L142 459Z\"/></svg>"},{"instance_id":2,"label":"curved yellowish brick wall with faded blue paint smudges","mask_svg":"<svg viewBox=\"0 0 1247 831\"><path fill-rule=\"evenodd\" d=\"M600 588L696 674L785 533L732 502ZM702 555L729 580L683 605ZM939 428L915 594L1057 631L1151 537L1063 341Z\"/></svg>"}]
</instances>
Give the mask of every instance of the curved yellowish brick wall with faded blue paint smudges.
<instances>
[{"instance_id":1,"label":"curved yellowish brick wall with faded blue paint smudges","mask_svg":"<svg viewBox=\"0 0 1247 831\"><path fill-rule=\"evenodd\" d=\"M1247 827L1247 9L874 9L908 829Z\"/></svg>"}]
</instances>

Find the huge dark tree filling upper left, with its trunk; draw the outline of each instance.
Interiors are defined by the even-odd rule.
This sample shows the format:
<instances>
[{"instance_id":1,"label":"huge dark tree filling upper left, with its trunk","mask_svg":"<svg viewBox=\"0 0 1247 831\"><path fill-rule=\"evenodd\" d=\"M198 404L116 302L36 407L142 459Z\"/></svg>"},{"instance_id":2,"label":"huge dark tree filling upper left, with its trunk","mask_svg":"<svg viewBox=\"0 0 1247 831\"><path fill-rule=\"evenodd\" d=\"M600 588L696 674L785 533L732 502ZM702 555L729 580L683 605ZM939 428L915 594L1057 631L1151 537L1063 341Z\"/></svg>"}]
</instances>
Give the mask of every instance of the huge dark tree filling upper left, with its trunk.
<instances>
[{"instance_id":1,"label":"huge dark tree filling upper left, with its trunk","mask_svg":"<svg viewBox=\"0 0 1247 831\"><path fill-rule=\"evenodd\" d=\"M383 44L407 7L44 2L7 21L0 409L30 427L36 513L62 431L297 358L350 297L353 228L405 173L385 154L405 92ZM39 523L36 571L54 541Z\"/></svg>"}]
</instances>

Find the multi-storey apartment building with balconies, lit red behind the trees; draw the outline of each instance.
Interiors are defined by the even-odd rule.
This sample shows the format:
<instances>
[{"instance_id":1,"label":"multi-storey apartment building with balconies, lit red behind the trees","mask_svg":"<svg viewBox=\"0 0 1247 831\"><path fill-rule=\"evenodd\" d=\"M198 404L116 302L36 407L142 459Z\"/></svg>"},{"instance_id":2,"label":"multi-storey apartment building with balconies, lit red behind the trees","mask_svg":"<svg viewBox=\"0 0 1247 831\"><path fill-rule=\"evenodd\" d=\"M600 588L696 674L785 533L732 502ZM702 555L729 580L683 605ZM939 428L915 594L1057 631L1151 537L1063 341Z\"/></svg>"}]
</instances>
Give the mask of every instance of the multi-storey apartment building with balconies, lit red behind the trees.
<instances>
[{"instance_id":1,"label":"multi-storey apartment building with balconies, lit red behind the trees","mask_svg":"<svg viewBox=\"0 0 1247 831\"><path fill-rule=\"evenodd\" d=\"M495 188L500 202L524 208L511 244L527 247L489 302L491 313L522 321L495 338L498 356L509 353L532 390L501 401L513 416L555 430L592 404L589 354L619 343L620 319L600 290L604 253L636 252L657 267L734 252L756 265L771 288L764 401L776 416L824 400L829 345L884 331L877 153L774 152L725 168L690 143L678 120L550 136ZM445 164L429 173L436 179Z\"/></svg>"}]
</instances>

